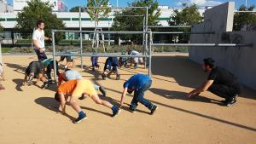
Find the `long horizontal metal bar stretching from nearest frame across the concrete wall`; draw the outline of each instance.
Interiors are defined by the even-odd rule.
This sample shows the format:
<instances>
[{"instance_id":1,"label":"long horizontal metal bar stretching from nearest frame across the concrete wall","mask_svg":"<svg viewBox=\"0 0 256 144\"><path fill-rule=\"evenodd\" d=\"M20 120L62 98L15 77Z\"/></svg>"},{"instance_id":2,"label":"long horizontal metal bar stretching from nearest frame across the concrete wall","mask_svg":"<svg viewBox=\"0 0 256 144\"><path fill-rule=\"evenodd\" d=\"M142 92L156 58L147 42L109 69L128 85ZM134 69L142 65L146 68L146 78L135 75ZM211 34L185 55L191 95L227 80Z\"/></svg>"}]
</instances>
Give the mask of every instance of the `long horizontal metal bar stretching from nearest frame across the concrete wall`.
<instances>
[{"instance_id":1,"label":"long horizontal metal bar stretching from nearest frame across the concrete wall","mask_svg":"<svg viewBox=\"0 0 256 144\"><path fill-rule=\"evenodd\" d=\"M153 46L195 46L195 47L252 47L253 43L152 43Z\"/></svg>"}]
</instances>

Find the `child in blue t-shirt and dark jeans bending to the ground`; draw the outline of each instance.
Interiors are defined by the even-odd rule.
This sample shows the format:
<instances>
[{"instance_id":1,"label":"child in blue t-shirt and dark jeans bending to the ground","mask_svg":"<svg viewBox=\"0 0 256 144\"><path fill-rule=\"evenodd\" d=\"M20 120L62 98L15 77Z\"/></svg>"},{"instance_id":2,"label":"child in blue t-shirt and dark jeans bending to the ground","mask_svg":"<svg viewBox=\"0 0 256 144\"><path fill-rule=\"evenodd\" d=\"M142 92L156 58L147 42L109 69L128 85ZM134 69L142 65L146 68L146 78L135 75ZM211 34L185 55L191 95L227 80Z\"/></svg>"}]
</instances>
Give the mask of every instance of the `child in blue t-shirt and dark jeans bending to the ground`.
<instances>
[{"instance_id":1,"label":"child in blue t-shirt and dark jeans bending to the ground","mask_svg":"<svg viewBox=\"0 0 256 144\"><path fill-rule=\"evenodd\" d=\"M148 109L151 111L150 112L151 114L154 114L155 110L157 109L157 106L149 102L148 100L144 99L144 93L146 90L150 88L151 84L152 84L152 80L147 75L136 74L132 76L124 84L124 91L121 97L120 107L123 106L126 93L128 92L129 94L131 94L134 91L134 96L131 101L131 106L129 107L131 112L136 112L137 103L140 102L145 107L148 107Z\"/></svg>"}]
</instances>

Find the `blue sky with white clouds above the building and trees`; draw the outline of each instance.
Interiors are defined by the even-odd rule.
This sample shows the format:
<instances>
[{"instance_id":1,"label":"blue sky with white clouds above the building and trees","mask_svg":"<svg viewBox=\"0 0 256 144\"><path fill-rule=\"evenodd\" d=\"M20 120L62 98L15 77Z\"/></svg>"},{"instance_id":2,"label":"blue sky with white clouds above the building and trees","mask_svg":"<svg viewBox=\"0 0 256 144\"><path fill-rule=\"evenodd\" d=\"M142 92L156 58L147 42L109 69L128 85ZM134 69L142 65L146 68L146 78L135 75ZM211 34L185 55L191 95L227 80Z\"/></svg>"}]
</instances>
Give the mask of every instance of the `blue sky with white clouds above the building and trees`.
<instances>
[{"instance_id":1,"label":"blue sky with white clouds above the building and trees","mask_svg":"<svg viewBox=\"0 0 256 144\"><path fill-rule=\"evenodd\" d=\"M63 0L65 3L67 3L68 9L74 7L74 6L83 6L86 5L87 0ZM127 3L134 2L134 0L118 0L120 7L127 6ZM229 1L235 1L236 2L236 8L239 8L241 4L244 4L246 0L158 0L160 5L168 5L172 7L178 7L181 3L196 3L201 6L211 6L211 5L217 5L219 3L225 3ZM13 3L13 0L8 0L9 3ZM110 0L110 3L112 5L116 5L116 0ZM256 0L247 0L247 5L255 5L256 6Z\"/></svg>"}]
</instances>

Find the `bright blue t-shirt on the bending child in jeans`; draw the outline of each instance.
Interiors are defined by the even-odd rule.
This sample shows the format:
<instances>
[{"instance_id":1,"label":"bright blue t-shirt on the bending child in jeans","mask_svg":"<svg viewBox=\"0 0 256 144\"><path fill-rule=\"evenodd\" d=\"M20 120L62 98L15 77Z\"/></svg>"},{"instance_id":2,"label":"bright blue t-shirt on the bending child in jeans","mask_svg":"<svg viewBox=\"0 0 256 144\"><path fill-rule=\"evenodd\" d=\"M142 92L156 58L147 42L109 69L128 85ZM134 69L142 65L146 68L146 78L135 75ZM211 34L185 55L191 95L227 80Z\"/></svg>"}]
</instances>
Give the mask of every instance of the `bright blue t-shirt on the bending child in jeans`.
<instances>
[{"instance_id":1,"label":"bright blue t-shirt on the bending child in jeans","mask_svg":"<svg viewBox=\"0 0 256 144\"><path fill-rule=\"evenodd\" d=\"M135 89L141 89L149 80L151 80L151 78L147 75L136 74L125 82L124 88L131 89L134 87Z\"/></svg>"}]
</instances>

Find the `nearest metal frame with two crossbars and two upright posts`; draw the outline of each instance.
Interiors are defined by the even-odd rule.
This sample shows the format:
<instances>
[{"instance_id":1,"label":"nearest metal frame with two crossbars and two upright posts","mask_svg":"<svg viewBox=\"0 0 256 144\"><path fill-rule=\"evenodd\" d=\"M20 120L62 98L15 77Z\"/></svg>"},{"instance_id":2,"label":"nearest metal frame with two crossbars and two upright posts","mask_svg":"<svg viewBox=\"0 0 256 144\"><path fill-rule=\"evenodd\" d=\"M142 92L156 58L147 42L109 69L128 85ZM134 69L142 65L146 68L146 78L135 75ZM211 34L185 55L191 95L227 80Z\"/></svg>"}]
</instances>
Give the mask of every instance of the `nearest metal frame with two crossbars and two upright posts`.
<instances>
[{"instance_id":1,"label":"nearest metal frame with two crossbars and two upright posts","mask_svg":"<svg viewBox=\"0 0 256 144\"><path fill-rule=\"evenodd\" d=\"M151 75L151 44L149 44L149 50L148 53L145 53L146 55L121 55L121 53L98 53L98 54L92 54L92 53L80 53L80 54L67 54L63 52L56 52L55 51L55 32L78 32L78 33L110 33L110 34L146 34L148 36L148 32L125 32L125 31L74 31L74 30L52 30L52 47L53 47L53 59L54 61L56 60L56 56L61 56L61 55L67 55L67 56L80 56L80 57L90 57L90 56L98 56L98 57L108 57L108 56L117 56L117 57L143 57L143 58L149 58L149 63L148 63L148 75ZM148 48L148 43L146 44L146 47L143 47L145 50ZM54 72L55 72L55 82L57 82L57 72L56 72L56 63L54 62Z\"/></svg>"}]
</instances>

